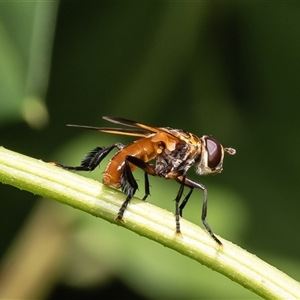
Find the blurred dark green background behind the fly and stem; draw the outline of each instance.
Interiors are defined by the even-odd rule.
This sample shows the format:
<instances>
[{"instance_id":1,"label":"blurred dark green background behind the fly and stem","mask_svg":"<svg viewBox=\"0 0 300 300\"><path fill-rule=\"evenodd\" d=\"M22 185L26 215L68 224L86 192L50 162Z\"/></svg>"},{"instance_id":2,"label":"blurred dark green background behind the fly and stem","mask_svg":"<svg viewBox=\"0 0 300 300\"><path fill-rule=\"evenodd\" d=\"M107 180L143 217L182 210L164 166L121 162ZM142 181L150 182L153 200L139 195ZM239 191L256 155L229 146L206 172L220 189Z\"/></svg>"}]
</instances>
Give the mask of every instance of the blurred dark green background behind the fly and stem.
<instances>
[{"instance_id":1,"label":"blurred dark green background behind the fly and stem","mask_svg":"<svg viewBox=\"0 0 300 300\"><path fill-rule=\"evenodd\" d=\"M189 174L208 188L213 230L299 280L299 3L11 2L0 22L1 146L76 165L132 140L65 126L109 126L103 115L211 134L237 150L222 174ZM176 183L151 186L148 201L173 211ZM83 212L0 195L0 296L258 298ZM202 197L184 214L199 226Z\"/></svg>"}]
</instances>

